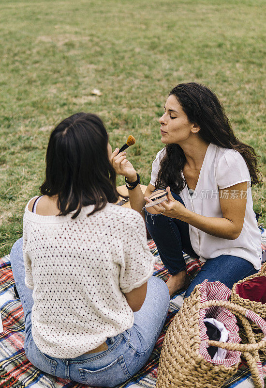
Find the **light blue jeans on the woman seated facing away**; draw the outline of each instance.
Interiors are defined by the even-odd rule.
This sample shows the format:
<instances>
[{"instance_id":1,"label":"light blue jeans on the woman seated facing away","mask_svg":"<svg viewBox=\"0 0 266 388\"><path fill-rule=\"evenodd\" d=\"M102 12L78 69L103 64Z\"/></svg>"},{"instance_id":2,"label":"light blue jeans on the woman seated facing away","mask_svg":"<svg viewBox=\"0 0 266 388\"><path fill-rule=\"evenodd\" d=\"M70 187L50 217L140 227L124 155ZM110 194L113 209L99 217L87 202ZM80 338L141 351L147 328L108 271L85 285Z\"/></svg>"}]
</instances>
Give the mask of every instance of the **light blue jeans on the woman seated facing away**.
<instances>
[{"instance_id":1,"label":"light blue jeans on the woman seated facing away","mask_svg":"<svg viewBox=\"0 0 266 388\"><path fill-rule=\"evenodd\" d=\"M22 239L15 242L10 261L25 316L25 353L34 366L53 376L81 384L114 387L133 376L148 361L169 307L169 291L162 279L155 276L148 279L146 298L140 310L134 312L133 327L107 338L107 350L76 358L55 358L42 353L31 335L33 299L32 290L25 286Z\"/></svg>"}]
</instances>

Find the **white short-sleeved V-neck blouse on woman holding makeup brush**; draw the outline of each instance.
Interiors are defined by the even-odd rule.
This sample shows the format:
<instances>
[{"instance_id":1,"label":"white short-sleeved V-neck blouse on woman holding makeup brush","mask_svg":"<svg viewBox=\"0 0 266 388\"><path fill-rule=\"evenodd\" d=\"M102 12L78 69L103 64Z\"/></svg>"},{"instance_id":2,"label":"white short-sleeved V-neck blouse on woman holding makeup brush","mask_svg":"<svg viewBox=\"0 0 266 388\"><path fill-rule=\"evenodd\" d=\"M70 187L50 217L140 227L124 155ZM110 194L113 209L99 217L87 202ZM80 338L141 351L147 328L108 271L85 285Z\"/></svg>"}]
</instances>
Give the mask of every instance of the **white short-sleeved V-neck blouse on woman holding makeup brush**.
<instances>
[{"instance_id":1,"label":"white short-sleeved V-neck blouse on woman holding makeup brush","mask_svg":"<svg viewBox=\"0 0 266 388\"><path fill-rule=\"evenodd\" d=\"M165 148L158 152L152 163L150 184L153 186L164 154ZM184 178L183 172L181 175ZM237 190L237 193L231 193L231 197L232 195L247 197L244 224L237 239L227 240L211 236L189 225L190 240L193 250L202 261L220 255L238 256L250 261L258 270L262 264L261 234L253 211L249 169L239 152L210 143L193 194L191 190L189 193L186 185L179 195L188 210L206 217L222 217L219 188L225 189L240 182L248 182L248 191L247 194ZM229 194L224 190L223 195L226 197Z\"/></svg>"}]
</instances>

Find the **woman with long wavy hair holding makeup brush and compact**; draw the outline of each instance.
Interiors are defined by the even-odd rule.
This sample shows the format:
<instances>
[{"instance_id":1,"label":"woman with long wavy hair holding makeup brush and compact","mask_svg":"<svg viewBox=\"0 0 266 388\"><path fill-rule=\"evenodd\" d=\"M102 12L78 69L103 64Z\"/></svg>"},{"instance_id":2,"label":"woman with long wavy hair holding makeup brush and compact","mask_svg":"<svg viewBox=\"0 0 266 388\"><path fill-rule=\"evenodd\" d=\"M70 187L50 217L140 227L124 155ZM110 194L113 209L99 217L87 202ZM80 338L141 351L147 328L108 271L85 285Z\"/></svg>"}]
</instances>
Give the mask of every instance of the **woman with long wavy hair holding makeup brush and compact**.
<instances>
[{"instance_id":1,"label":"woman with long wavy hair holding makeup brush and compact","mask_svg":"<svg viewBox=\"0 0 266 388\"><path fill-rule=\"evenodd\" d=\"M166 146L152 163L145 195L126 153L116 149L113 165L125 176L131 206L145 217L171 275L170 295L187 288L188 296L205 278L231 289L261 268L261 237L251 197L251 185L260 181L257 155L236 138L222 104L204 85L177 85L164 110L159 121ZM167 200L146 209L157 189L166 189ZM183 252L204 263L191 284Z\"/></svg>"}]
</instances>

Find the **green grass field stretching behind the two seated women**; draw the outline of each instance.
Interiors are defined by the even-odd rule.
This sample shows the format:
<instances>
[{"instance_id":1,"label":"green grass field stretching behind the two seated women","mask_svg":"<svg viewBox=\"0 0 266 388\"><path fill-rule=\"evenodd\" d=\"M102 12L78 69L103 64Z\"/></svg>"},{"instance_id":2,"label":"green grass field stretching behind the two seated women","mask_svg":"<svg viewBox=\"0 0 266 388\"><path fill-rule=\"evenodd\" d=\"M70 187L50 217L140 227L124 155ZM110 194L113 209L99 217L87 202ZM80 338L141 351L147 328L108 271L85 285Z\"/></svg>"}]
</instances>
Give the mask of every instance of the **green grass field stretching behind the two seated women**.
<instances>
[{"instance_id":1,"label":"green grass field stretching behind the two seated women","mask_svg":"<svg viewBox=\"0 0 266 388\"><path fill-rule=\"evenodd\" d=\"M0 256L22 235L44 178L51 129L99 114L113 147L148 184L163 147L158 118L179 82L211 87L266 176L263 0L2 0L0 23ZM97 88L102 96L91 95ZM122 178L118 177L122 184ZM266 225L266 180L253 189Z\"/></svg>"}]
</instances>

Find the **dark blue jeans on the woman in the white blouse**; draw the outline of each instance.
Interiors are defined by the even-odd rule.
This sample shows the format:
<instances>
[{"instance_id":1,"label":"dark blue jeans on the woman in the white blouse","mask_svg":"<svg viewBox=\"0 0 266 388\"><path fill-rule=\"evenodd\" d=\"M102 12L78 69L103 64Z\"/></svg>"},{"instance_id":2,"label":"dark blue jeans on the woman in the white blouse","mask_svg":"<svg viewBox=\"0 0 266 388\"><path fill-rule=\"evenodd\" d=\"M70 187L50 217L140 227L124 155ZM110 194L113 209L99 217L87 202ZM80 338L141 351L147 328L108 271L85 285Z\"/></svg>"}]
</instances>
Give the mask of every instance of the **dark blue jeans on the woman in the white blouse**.
<instances>
[{"instance_id":1,"label":"dark blue jeans on the woman in the white blouse","mask_svg":"<svg viewBox=\"0 0 266 388\"><path fill-rule=\"evenodd\" d=\"M172 193L172 195L184 205L179 195L175 193ZM145 208L144 211L148 232L153 238L169 274L176 275L178 272L186 269L183 252L193 258L199 258L193 251L189 226L186 222L161 214L152 215ZM249 261L237 256L221 255L217 258L207 259L200 272L189 285L185 297L189 296L195 286L202 283L205 279L209 281L219 280L231 290L234 283L238 280L257 272Z\"/></svg>"}]
</instances>

